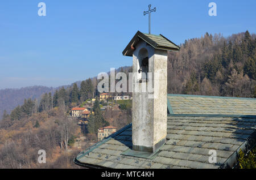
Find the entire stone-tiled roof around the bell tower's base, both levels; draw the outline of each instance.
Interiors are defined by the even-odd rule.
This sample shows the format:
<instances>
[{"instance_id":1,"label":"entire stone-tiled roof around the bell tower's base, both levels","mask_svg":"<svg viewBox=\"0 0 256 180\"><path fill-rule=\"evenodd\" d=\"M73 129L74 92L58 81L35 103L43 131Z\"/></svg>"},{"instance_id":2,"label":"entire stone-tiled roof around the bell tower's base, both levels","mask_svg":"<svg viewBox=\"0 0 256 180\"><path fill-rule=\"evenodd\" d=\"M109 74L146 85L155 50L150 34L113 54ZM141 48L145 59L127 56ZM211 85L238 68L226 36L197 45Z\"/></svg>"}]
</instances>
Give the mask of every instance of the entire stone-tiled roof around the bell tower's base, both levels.
<instances>
[{"instance_id":1,"label":"entire stone-tiled roof around the bell tower's base, both levels","mask_svg":"<svg viewBox=\"0 0 256 180\"><path fill-rule=\"evenodd\" d=\"M168 95L166 143L134 156L131 124L81 152L88 168L232 168L240 148L255 145L256 99ZM209 163L215 150L217 162Z\"/></svg>"}]
</instances>

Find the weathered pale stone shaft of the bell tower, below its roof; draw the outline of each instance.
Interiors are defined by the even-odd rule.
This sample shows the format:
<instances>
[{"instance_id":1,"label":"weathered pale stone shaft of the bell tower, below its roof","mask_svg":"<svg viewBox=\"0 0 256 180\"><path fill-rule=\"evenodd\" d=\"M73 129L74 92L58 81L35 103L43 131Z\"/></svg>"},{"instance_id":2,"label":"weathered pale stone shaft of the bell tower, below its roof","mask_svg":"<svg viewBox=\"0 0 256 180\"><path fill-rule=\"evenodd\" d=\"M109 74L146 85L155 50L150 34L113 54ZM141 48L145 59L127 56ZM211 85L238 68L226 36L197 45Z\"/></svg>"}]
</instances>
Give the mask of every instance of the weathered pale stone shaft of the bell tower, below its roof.
<instances>
[{"instance_id":1,"label":"weathered pale stone shaft of the bell tower, below its roof","mask_svg":"<svg viewBox=\"0 0 256 180\"><path fill-rule=\"evenodd\" d=\"M167 52L156 50L141 41L133 52L133 72L138 72L143 58L148 57L148 72L153 73L152 80L155 97L143 92L143 85L138 83L139 74L133 77L133 148L156 151L167 135ZM155 72L158 72L156 74ZM161 141L162 140L162 141Z\"/></svg>"}]
</instances>

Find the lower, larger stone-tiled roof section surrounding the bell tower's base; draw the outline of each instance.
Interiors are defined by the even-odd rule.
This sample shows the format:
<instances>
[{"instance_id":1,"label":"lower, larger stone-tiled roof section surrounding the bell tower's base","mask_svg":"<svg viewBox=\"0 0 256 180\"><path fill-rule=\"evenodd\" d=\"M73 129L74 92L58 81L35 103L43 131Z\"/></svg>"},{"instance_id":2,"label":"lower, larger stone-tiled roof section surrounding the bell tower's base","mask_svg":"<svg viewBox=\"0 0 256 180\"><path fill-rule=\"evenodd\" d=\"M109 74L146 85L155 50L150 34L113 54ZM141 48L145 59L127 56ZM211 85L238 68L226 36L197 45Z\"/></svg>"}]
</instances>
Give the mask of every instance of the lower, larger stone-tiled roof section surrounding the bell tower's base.
<instances>
[{"instance_id":1,"label":"lower, larger stone-tiled roof section surrounding the bell tower's base","mask_svg":"<svg viewBox=\"0 0 256 180\"><path fill-rule=\"evenodd\" d=\"M255 132L256 116L170 115L167 140L154 159L121 155L132 147L131 125L77 155L75 162L94 168L221 168ZM210 164L209 150L217 152Z\"/></svg>"}]
</instances>

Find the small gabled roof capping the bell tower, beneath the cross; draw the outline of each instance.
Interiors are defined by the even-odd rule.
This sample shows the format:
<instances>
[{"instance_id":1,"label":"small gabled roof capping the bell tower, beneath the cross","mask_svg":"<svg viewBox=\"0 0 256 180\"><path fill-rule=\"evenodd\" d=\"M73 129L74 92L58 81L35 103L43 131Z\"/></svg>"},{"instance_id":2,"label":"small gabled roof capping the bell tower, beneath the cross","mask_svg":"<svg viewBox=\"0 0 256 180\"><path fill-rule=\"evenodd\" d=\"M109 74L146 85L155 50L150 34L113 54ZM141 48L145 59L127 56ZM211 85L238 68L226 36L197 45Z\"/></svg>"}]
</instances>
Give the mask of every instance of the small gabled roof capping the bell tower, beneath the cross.
<instances>
[{"instance_id":1,"label":"small gabled roof capping the bell tower, beneath the cross","mask_svg":"<svg viewBox=\"0 0 256 180\"><path fill-rule=\"evenodd\" d=\"M133 56L133 50L135 49L135 46L140 40L147 42L147 44L151 45L155 49L169 51L180 50L179 46L174 44L174 42L168 40L168 38L164 37L163 35L152 35L138 31L131 39L129 44L126 46L125 50L123 50L123 55Z\"/></svg>"}]
</instances>

